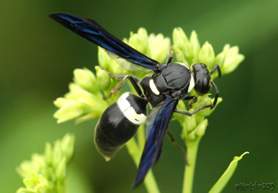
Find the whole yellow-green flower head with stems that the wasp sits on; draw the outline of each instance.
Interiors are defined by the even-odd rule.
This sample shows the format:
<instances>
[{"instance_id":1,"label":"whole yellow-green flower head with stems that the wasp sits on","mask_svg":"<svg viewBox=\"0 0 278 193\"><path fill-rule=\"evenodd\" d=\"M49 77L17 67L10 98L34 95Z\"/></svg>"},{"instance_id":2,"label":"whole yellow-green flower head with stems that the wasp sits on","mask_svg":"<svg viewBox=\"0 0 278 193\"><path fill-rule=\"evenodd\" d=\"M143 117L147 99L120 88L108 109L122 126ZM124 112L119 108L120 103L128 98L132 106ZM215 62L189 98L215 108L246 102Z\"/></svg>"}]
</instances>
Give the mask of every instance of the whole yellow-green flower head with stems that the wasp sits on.
<instances>
[{"instance_id":1,"label":"whole yellow-green flower head with stems that the wasp sits on","mask_svg":"<svg viewBox=\"0 0 278 193\"><path fill-rule=\"evenodd\" d=\"M137 33L131 32L129 39L124 39L123 41L158 62L165 62L170 52L171 44L168 37L163 37L161 34L148 35L145 28L140 28ZM172 48L174 50L175 62L183 62L188 66L193 65L193 63L204 63L210 70L213 69L215 64L218 64L222 71L222 75L234 71L240 62L244 60L244 56L238 53L238 47L230 47L229 44L226 44L223 50L215 55L213 47L208 42L205 42L201 47L195 31L193 31L190 38L188 38L181 28L175 28L173 31ZM64 97L54 101L54 104L59 108L54 114L54 117L58 119L58 123L71 119L80 122L99 118L101 113L120 97L120 93L117 93L112 94L108 99L104 99L104 97L111 94L111 90L119 83L119 81L112 78L110 74L131 74L138 78L150 74L148 69L133 65L119 58L115 53L111 53L100 47L98 60L99 66L95 67L95 74L88 69L75 69L74 83L70 83L70 92L65 94ZM214 79L217 76L218 72L215 72L212 78ZM133 87L130 87L130 90L134 92ZM213 103L214 100L211 94L198 95L195 90L193 90L190 95L195 95L197 101L190 101L190 105L183 103L183 101L179 101L177 106L178 110L193 112L197 108ZM218 103L216 105L221 101L222 99L218 98ZM181 137L186 142L188 162L190 162L190 165L186 166L187 174L185 173L185 176L187 176L187 178L185 178L185 181L187 182L183 182L183 187L186 187L183 189L183 192L191 192L197 146L208 126L208 119L206 119L206 117L208 117L213 110L215 110L215 107L212 110L206 108L191 117L174 113L174 119L177 119L183 128ZM136 165L139 163L140 153L142 152L140 147L143 148L144 143L145 135L142 129L138 130L138 142L132 138L126 143L127 149L134 162L136 162ZM230 174L229 172L226 173ZM218 186L224 187L223 185L229 181L230 177L231 175L224 178L224 182L220 181ZM152 172L149 172L146 176L145 185L149 192L159 192Z\"/></svg>"}]
</instances>

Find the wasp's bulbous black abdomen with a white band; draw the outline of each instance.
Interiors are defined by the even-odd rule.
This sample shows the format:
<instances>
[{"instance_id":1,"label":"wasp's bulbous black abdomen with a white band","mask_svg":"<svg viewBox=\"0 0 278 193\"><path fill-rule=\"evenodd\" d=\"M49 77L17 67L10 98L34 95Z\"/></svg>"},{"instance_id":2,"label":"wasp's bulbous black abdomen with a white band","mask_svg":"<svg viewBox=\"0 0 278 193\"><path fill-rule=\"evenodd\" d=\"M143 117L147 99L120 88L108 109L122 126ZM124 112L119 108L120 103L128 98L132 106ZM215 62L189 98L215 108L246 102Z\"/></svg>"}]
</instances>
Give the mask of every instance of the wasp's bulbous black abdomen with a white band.
<instances>
[{"instance_id":1,"label":"wasp's bulbous black abdomen with a white band","mask_svg":"<svg viewBox=\"0 0 278 193\"><path fill-rule=\"evenodd\" d=\"M145 99L129 92L106 108L95 128L95 144L106 160L135 135L147 118L146 108Z\"/></svg>"}]
</instances>

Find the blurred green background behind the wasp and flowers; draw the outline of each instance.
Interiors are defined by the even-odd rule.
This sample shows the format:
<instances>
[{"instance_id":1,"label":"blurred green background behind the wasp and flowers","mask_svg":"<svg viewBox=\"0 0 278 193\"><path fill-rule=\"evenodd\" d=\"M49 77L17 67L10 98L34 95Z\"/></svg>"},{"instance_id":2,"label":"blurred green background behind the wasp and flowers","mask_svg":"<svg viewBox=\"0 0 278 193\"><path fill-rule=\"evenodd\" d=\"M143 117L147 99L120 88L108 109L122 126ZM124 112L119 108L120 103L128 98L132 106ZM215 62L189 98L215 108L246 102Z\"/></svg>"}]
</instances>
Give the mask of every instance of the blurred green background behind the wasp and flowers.
<instances>
[{"instance_id":1,"label":"blurred green background behind the wasp and flowers","mask_svg":"<svg viewBox=\"0 0 278 193\"><path fill-rule=\"evenodd\" d=\"M131 190L136 167L126 149L106 162L93 144L95 120L56 124L53 101L63 96L77 67L94 70L97 47L47 17L73 12L98 21L122 39L141 26L172 37L180 26L196 30L215 53L224 44L238 45L245 60L216 81L223 102L209 117L199 146L193 192L208 192L234 156L250 151L224 192L237 183L275 183L277 150L278 1L8 1L0 2L0 192L23 186L15 168L42 153L44 143L76 135L68 167L70 192L146 192ZM179 138L181 128L172 122ZM179 140L181 144L181 140ZM161 192L181 192L183 159L169 140L154 167ZM258 190L258 192L261 192ZM265 191L268 192L268 191ZM275 192L275 191L270 191Z\"/></svg>"}]
</instances>

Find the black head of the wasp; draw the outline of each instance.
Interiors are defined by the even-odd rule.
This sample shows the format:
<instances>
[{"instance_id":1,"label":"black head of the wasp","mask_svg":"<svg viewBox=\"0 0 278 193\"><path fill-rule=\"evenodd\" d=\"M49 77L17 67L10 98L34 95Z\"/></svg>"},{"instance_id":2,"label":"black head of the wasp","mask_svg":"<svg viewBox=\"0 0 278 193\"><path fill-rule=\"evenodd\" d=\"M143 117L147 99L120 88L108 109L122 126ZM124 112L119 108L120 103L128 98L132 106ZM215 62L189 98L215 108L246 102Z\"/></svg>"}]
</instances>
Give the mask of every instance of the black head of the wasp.
<instances>
[{"instance_id":1,"label":"black head of the wasp","mask_svg":"<svg viewBox=\"0 0 278 193\"><path fill-rule=\"evenodd\" d=\"M196 63L191 66L195 80L195 91L198 94L206 94L211 89L211 73L208 67L202 63Z\"/></svg>"}]
</instances>

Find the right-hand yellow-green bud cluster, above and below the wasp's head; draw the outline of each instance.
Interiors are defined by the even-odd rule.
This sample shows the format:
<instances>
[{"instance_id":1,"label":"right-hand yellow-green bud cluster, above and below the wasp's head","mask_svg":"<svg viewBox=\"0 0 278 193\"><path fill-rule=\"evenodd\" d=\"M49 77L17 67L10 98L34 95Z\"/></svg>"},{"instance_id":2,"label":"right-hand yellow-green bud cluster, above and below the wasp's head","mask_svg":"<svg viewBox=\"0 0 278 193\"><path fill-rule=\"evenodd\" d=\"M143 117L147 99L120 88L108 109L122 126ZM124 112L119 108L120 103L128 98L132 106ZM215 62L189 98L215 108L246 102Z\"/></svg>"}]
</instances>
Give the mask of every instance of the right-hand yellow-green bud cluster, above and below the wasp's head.
<instances>
[{"instance_id":1,"label":"right-hand yellow-green bud cluster, above and below the wasp's head","mask_svg":"<svg viewBox=\"0 0 278 193\"><path fill-rule=\"evenodd\" d=\"M189 66L194 63L204 63L208 69L212 69L215 64L218 64L222 75L229 74L238 65L244 60L244 56L238 53L238 47L230 47L229 44L226 44L221 53L215 56L213 47L208 42L205 42L202 47L199 44L197 33L193 31L190 35L190 38L186 36L186 33L183 32L181 28L174 28L173 32L173 49L175 56L178 62L183 62ZM215 72L212 78L218 76L218 73ZM191 92L191 95L197 96L197 103L193 103L190 106L189 111L194 111L197 108L206 106L210 103L213 103L213 98L211 99L211 94L204 94L199 96L194 90ZM222 101L222 98L218 98L218 103ZM217 103L217 104L218 104ZM186 110L186 105L183 101L179 101L177 106L179 110ZM187 145L190 145L191 142L199 140L206 130L208 125L208 115L211 115L215 108L212 110L206 108L192 117L182 116L174 114L174 117L179 121L183 127L181 137L186 141Z\"/></svg>"}]
</instances>

